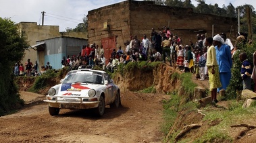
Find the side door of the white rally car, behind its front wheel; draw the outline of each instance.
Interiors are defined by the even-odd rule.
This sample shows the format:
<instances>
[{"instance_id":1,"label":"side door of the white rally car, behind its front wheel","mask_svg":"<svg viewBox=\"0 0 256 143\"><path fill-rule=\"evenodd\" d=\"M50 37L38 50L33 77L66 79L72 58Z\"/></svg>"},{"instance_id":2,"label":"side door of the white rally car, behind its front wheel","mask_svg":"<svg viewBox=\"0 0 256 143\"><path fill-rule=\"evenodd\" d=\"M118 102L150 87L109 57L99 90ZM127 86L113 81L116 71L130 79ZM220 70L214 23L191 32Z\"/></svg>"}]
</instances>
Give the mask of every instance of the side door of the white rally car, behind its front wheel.
<instances>
[{"instance_id":1,"label":"side door of the white rally car, behind its front wheel","mask_svg":"<svg viewBox=\"0 0 256 143\"><path fill-rule=\"evenodd\" d=\"M105 85L106 86L105 101L106 101L106 104L109 104L113 101L113 99L115 99L113 95L113 82L107 73L104 74L104 79L105 81L107 81L107 85Z\"/></svg>"}]
</instances>

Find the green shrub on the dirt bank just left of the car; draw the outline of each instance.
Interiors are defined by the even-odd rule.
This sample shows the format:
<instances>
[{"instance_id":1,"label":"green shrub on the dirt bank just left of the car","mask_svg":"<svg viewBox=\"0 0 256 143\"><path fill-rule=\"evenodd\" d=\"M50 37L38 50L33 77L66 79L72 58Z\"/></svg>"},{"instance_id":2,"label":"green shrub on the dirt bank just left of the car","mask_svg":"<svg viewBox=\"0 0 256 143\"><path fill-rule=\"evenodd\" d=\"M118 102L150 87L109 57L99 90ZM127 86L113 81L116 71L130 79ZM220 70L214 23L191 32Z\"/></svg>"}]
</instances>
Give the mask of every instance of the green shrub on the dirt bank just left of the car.
<instances>
[{"instance_id":1,"label":"green shrub on the dirt bank just left of the car","mask_svg":"<svg viewBox=\"0 0 256 143\"><path fill-rule=\"evenodd\" d=\"M52 80L57 77L57 73L54 70L47 70L46 73L36 78L34 85L28 89L30 92L38 93L40 89L48 87Z\"/></svg>"}]
</instances>

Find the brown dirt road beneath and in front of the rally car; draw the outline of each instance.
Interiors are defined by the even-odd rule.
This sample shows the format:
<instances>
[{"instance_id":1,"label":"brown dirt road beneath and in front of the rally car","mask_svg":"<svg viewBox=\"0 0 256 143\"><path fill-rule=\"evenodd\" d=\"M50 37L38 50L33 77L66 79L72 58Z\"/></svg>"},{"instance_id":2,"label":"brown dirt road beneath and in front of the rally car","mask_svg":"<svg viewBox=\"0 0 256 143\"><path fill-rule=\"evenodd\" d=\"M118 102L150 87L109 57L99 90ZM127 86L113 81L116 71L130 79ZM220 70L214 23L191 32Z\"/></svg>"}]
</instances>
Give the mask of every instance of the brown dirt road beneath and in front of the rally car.
<instances>
[{"instance_id":1,"label":"brown dirt road beneath and in front of the rally car","mask_svg":"<svg viewBox=\"0 0 256 143\"><path fill-rule=\"evenodd\" d=\"M101 118L88 110L61 109L51 116L43 95L21 92L27 105L0 117L1 142L162 142L162 99L168 95L122 93L119 109Z\"/></svg>"}]
</instances>

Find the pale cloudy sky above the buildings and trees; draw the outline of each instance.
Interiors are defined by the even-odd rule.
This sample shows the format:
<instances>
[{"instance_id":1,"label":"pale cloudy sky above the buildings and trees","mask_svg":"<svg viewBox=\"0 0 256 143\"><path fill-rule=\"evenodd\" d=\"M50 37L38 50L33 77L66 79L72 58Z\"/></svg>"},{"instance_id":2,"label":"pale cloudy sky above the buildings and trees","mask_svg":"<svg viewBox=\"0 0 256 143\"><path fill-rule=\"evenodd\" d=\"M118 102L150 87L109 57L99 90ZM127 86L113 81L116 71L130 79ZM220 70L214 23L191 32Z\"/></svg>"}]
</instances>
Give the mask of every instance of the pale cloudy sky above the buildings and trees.
<instances>
[{"instance_id":1,"label":"pale cloudy sky above the buildings and trees","mask_svg":"<svg viewBox=\"0 0 256 143\"><path fill-rule=\"evenodd\" d=\"M125 0L0 0L0 17L10 18L15 23L28 21L42 25L45 11L44 25L59 26L59 31L64 32L66 28L76 28L88 11L122 1ZM196 0L191 1L197 6ZM234 7L249 4L256 8L255 0L205 0L205 3L217 3L219 7L229 3Z\"/></svg>"}]
</instances>

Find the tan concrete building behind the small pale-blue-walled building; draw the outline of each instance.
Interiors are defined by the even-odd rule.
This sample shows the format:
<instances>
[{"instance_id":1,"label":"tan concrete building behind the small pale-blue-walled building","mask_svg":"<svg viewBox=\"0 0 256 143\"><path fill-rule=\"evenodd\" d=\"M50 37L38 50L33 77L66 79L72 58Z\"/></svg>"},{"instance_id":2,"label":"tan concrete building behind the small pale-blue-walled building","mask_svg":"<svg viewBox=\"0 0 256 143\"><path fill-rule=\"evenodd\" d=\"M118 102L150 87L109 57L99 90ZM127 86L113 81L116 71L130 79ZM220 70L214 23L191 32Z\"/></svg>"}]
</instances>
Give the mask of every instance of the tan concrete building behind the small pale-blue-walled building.
<instances>
[{"instance_id":1,"label":"tan concrete building behind the small pale-blue-walled building","mask_svg":"<svg viewBox=\"0 0 256 143\"><path fill-rule=\"evenodd\" d=\"M59 32L59 26L39 26L36 22L20 22L17 24L17 26L19 32L27 36L30 46L36 45L37 41L46 40L49 38L58 38L61 36L88 39L88 34L84 32ZM25 50L24 58L21 63L25 64L28 58L30 58L30 62L34 64L38 59L36 50L33 50L32 48ZM45 65L43 63L41 64L39 64L39 67Z\"/></svg>"}]
</instances>

